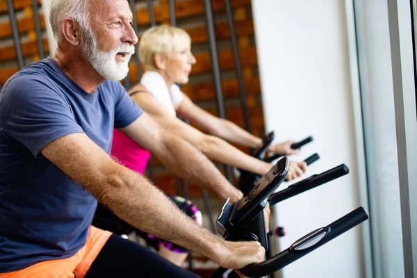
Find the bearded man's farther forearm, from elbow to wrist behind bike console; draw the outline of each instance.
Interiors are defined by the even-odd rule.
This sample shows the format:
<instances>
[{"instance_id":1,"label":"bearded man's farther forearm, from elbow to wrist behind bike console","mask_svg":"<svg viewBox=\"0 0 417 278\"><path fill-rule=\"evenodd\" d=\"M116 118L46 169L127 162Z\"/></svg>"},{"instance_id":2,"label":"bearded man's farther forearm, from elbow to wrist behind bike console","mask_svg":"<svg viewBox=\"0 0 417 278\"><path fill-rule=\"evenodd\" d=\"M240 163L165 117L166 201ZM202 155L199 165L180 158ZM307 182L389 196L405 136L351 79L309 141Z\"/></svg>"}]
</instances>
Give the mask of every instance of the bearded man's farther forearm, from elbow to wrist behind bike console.
<instances>
[{"instance_id":1,"label":"bearded man's farther forearm, from elbow to wrist behind bike console","mask_svg":"<svg viewBox=\"0 0 417 278\"><path fill-rule=\"evenodd\" d=\"M165 148L162 152L156 152L155 155L172 172L202 186L222 200L231 197L233 201L236 201L236 198L241 197L240 192L231 186L215 165L198 149L169 132L164 138Z\"/></svg>"}]
</instances>

